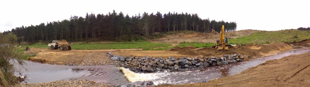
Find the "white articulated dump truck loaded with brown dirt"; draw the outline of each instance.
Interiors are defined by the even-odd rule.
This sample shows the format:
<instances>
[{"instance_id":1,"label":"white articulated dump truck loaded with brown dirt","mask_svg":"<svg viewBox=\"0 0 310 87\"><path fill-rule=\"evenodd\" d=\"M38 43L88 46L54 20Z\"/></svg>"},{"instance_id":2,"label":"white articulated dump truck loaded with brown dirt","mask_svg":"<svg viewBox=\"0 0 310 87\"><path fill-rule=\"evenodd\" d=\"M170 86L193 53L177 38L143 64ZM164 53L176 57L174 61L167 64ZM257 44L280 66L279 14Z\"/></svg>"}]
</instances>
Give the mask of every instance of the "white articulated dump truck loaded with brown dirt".
<instances>
[{"instance_id":1,"label":"white articulated dump truck loaded with brown dirt","mask_svg":"<svg viewBox=\"0 0 310 87\"><path fill-rule=\"evenodd\" d=\"M60 49L60 50L71 50L71 45L72 45L72 42L67 42L66 40L53 40L51 44L48 44L48 47L50 47L52 50L54 49Z\"/></svg>"}]
</instances>

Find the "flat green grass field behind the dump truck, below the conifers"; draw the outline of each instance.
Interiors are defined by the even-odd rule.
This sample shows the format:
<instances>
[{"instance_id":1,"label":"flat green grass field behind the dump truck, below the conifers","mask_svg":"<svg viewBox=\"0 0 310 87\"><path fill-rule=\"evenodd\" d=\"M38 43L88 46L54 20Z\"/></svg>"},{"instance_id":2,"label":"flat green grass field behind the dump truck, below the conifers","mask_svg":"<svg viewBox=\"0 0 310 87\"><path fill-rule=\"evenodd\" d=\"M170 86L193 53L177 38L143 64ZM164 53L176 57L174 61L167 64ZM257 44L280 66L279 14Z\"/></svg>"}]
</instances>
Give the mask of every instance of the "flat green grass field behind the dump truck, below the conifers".
<instances>
[{"instance_id":1,"label":"flat green grass field behind the dump truck, below the conifers","mask_svg":"<svg viewBox=\"0 0 310 87\"><path fill-rule=\"evenodd\" d=\"M47 44L44 45L27 45L34 48L49 48ZM156 48L171 46L171 44L160 44L153 42L118 42L118 43L106 43L106 44L74 44L72 49L80 50L97 50L97 49L139 49L139 48Z\"/></svg>"}]
</instances>

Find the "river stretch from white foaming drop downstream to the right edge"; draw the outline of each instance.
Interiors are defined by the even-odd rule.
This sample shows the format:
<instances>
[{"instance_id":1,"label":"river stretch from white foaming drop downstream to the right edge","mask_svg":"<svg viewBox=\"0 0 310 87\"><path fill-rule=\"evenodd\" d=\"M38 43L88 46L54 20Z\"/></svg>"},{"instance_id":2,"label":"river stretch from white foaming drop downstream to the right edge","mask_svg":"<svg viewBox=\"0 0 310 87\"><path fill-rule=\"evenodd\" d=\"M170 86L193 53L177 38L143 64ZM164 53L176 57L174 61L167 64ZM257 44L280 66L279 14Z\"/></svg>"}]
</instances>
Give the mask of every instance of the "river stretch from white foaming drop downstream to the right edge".
<instances>
[{"instance_id":1,"label":"river stretch from white foaming drop downstream to the right edge","mask_svg":"<svg viewBox=\"0 0 310 87\"><path fill-rule=\"evenodd\" d=\"M188 69L177 72L156 72L156 73L134 73L127 68L120 68L124 76L131 81L153 81L155 85L169 83L169 84L184 84L184 83L198 83L202 81L209 81L212 79L225 77L240 73L247 68L257 66L264 63L266 60L280 59L292 54L301 54L310 52L310 49L291 49L271 56L264 56L244 62L237 62L221 66L206 67L203 69Z\"/></svg>"}]
</instances>

